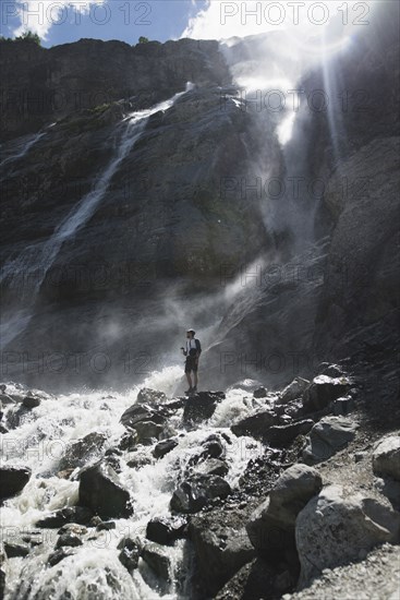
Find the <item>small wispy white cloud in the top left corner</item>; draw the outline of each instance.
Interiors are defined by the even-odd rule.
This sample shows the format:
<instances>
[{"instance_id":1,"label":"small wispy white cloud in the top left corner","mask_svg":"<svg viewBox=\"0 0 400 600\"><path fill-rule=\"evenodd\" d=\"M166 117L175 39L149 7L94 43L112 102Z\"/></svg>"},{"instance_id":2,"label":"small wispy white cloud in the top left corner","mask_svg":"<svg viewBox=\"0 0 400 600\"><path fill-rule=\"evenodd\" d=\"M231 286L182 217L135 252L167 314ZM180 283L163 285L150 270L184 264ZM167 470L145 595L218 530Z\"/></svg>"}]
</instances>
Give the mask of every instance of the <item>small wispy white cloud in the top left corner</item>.
<instances>
[{"instance_id":1,"label":"small wispy white cloud in the top left corner","mask_svg":"<svg viewBox=\"0 0 400 600\"><path fill-rule=\"evenodd\" d=\"M20 36L29 29L46 39L51 27L63 24L78 25L82 16L93 11L95 5L106 3L107 0L15 0L20 25L12 33ZM99 15L98 19L102 16Z\"/></svg>"}]
</instances>

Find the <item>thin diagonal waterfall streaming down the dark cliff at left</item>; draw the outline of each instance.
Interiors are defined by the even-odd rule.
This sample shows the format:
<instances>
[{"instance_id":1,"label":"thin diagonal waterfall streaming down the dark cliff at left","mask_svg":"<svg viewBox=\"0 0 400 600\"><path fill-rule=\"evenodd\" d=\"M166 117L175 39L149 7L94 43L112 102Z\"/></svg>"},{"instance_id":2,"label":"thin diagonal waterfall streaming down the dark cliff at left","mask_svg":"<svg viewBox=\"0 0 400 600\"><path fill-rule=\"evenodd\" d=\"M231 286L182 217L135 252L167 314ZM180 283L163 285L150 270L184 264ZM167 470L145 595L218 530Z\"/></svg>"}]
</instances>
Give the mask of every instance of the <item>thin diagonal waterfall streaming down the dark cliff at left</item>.
<instances>
[{"instance_id":1,"label":"thin diagonal waterfall streaming down the dark cliff at left","mask_svg":"<svg viewBox=\"0 0 400 600\"><path fill-rule=\"evenodd\" d=\"M9 261L2 267L0 283L4 281L12 288L13 285L19 286L22 280L23 286L20 295L22 305L19 308L14 305L10 314L2 314L1 348L5 348L29 323L40 286L45 280L46 274L53 264L61 245L66 240L71 239L78 229L84 227L94 215L96 208L107 193L113 175L132 151L135 143L140 140L149 117L156 112L168 110L178 98L192 88L193 84L187 83L186 89L175 94L172 98L163 100L149 109L130 113L118 127L117 137L119 140L116 155L95 182L93 190L84 195L77 205L72 208L48 240L26 247L16 259ZM32 147L32 145L44 134L45 133L39 133L35 135L35 137L26 144L22 153L13 157L13 159L26 154L29 147ZM11 160L11 158L8 160Z\"/></svg>"}]
</instances>

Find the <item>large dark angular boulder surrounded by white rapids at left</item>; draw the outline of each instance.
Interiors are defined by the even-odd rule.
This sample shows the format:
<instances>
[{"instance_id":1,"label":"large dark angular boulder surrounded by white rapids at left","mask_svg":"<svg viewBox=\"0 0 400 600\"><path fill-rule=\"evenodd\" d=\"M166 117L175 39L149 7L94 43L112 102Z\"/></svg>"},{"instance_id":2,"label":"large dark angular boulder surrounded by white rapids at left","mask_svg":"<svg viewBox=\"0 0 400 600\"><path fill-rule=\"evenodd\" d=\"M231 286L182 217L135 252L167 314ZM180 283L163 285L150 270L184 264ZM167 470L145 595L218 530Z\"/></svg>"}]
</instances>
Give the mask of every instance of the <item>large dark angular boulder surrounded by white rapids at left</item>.
<instances>
[{"instance_id":1,"label":"large dark angular boulder surrounded by white rapids at left","mask_svg":"<svg viewBox=\"0 0 400 600\"><path fill-rule=\"evenodd\" d=\"M78 502L101 518L129 517L133 513L130 493L116 471L101 461L81 471Z\"/></svg>"}]
</instances>

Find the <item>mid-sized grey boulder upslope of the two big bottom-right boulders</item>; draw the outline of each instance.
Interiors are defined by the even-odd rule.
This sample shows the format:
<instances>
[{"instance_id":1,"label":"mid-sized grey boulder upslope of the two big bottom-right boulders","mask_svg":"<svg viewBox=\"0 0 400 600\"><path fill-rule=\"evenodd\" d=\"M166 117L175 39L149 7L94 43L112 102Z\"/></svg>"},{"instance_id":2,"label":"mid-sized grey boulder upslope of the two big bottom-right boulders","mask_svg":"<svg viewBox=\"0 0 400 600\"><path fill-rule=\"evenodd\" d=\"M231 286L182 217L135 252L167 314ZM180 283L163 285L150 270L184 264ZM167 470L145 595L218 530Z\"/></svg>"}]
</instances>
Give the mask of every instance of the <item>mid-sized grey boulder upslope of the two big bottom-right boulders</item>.
<instances>
[{"instance_id":1,"label":"mid-sized grey boulder upslope of the two big bottom-right boulders","mask_svg":"<svg viewBox=\"0 0 400 600\"><path fill-rule=\"evenodd\" d=\"M351 442L359 424L346 417L325 417L310 432L310 445L303 451L307 465L327 460Z\"/></svg>"}]
</instances>

